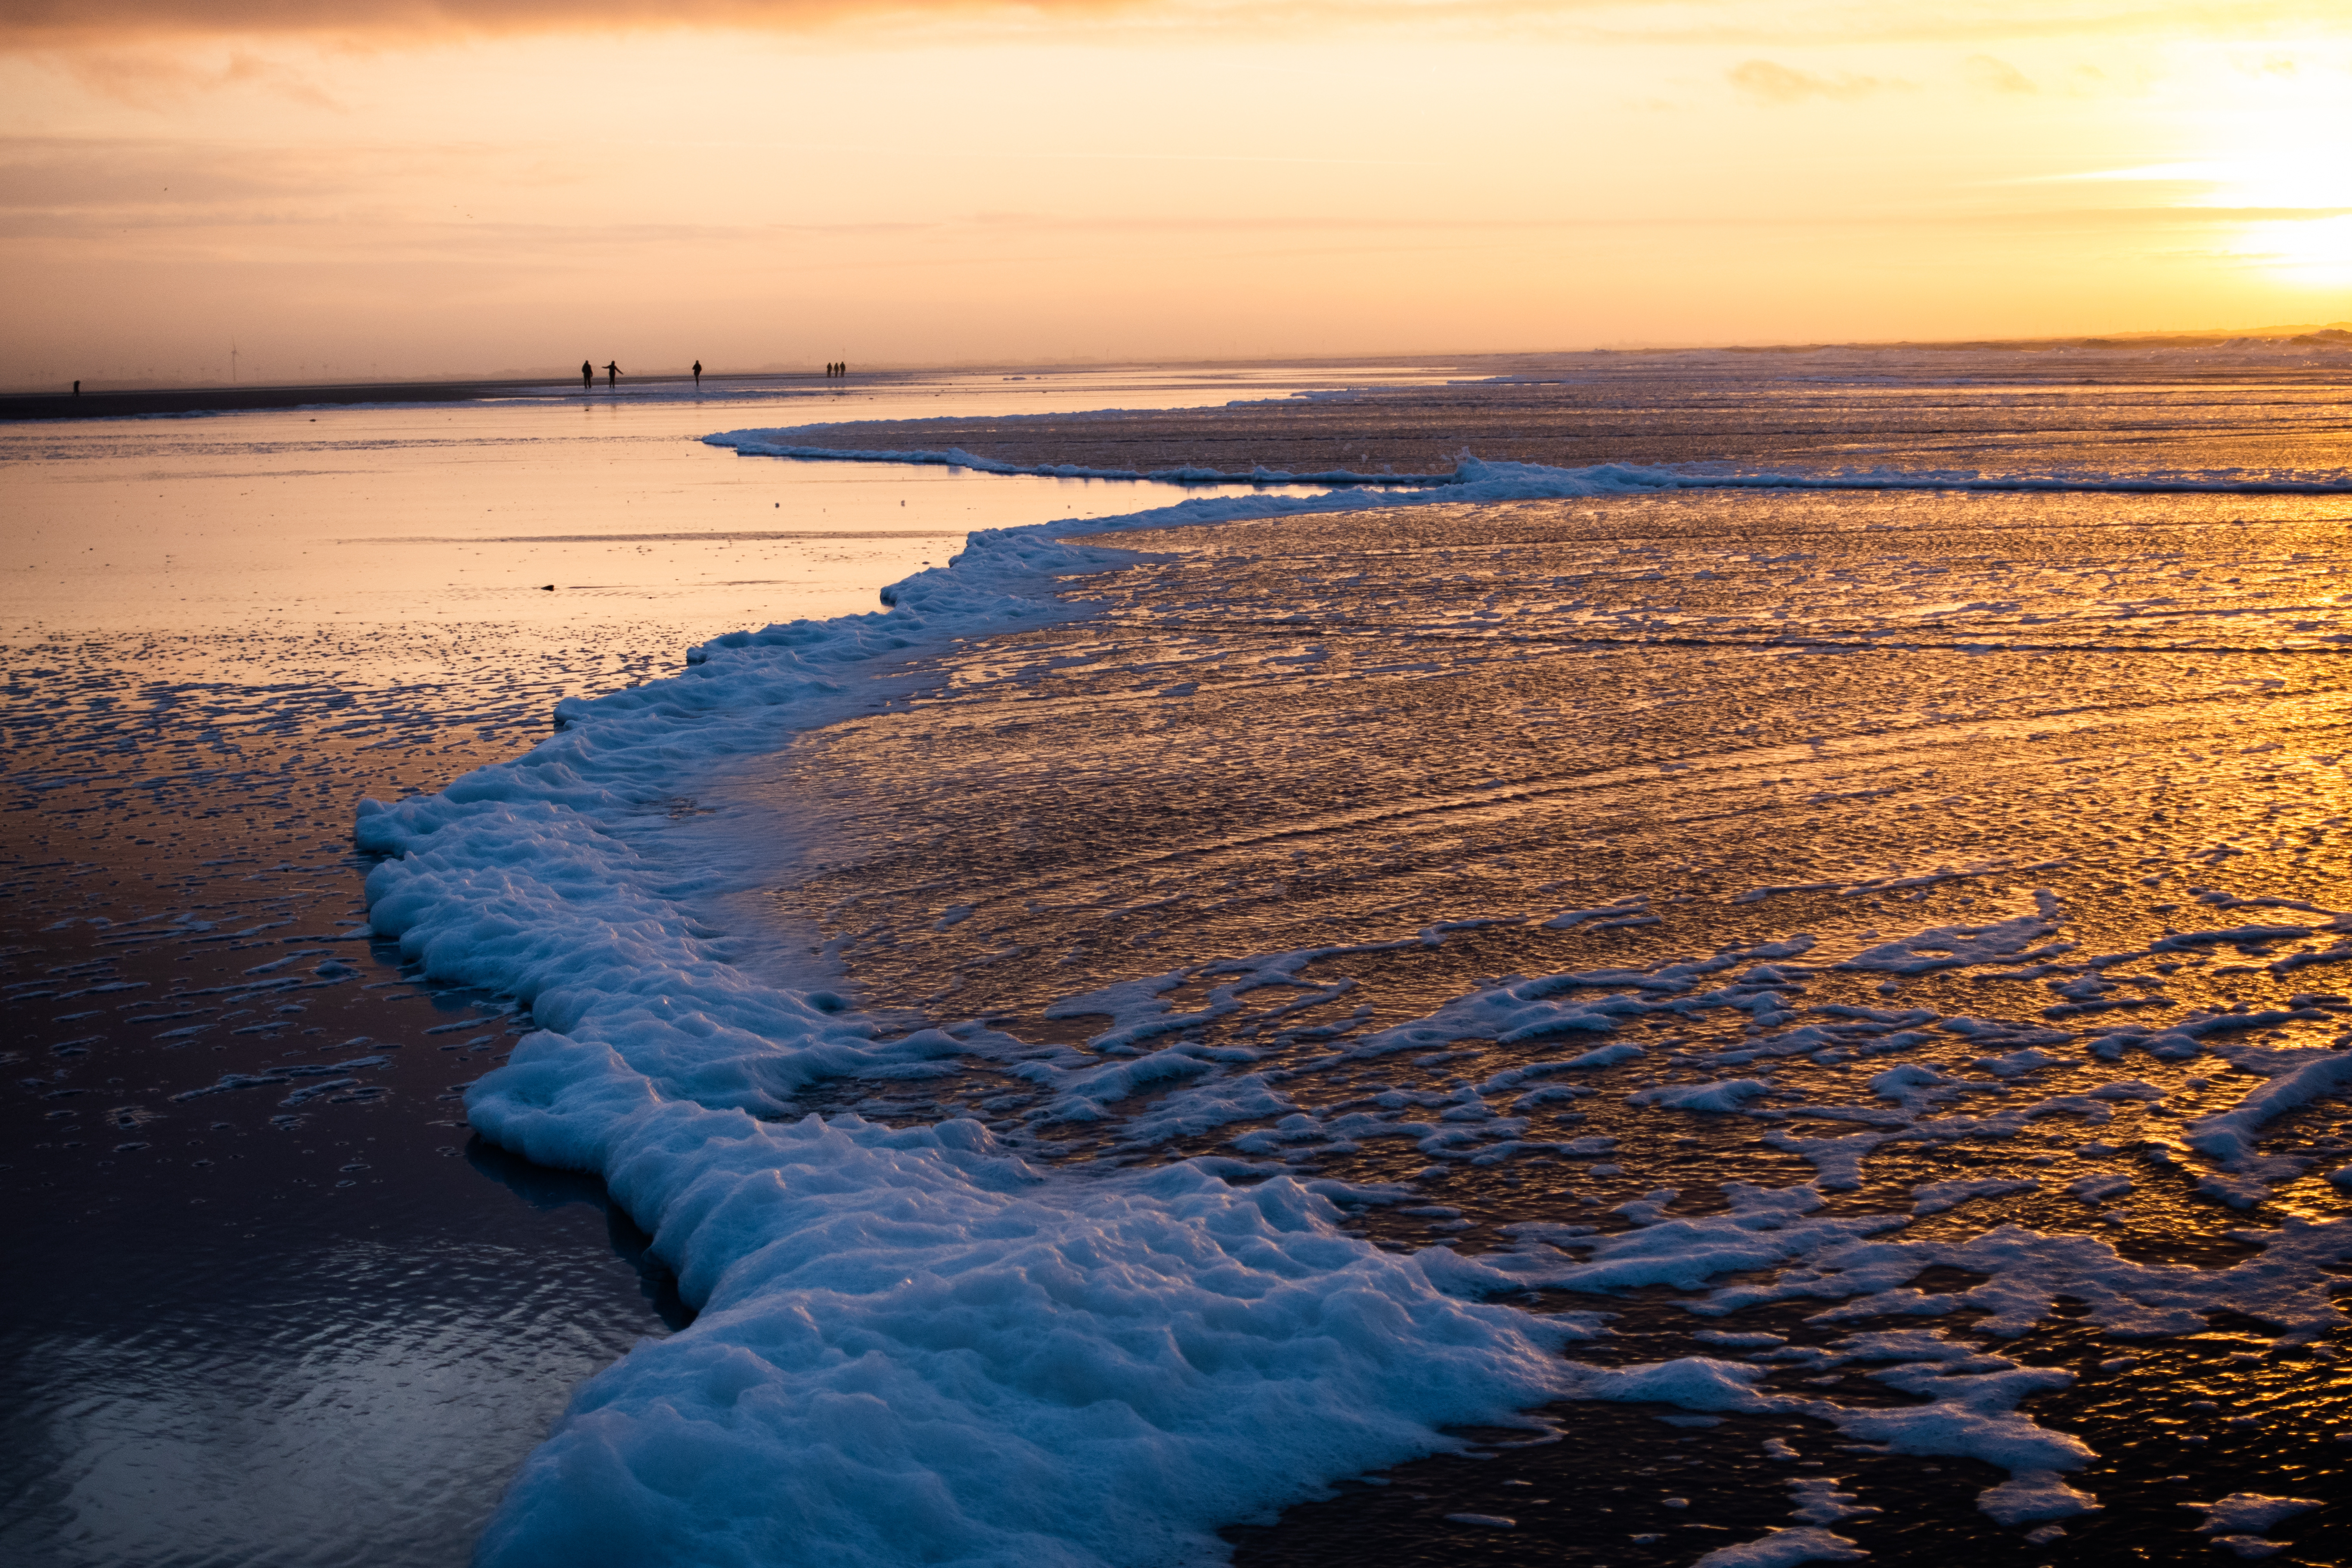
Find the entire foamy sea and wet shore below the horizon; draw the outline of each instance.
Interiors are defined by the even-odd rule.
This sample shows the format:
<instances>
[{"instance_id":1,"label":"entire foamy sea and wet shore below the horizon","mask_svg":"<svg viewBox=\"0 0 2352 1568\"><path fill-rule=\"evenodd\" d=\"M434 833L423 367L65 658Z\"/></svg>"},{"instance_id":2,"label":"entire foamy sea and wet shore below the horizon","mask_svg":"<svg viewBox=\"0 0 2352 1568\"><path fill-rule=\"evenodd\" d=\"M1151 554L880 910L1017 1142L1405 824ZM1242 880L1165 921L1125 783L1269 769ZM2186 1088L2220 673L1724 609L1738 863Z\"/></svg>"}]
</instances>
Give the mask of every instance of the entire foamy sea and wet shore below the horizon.
<instances>
[{"instance_id":1,"label":"entire foamy sea and wet shore below the horizon","mask_svg":"<svg viewBox=\"0 0 2352 1568\"><path fill-rule=\"evenodd\" d=\"M0 425L24 1563L2352 1554L2352 353Z\"/></svg>"}]
</instances>

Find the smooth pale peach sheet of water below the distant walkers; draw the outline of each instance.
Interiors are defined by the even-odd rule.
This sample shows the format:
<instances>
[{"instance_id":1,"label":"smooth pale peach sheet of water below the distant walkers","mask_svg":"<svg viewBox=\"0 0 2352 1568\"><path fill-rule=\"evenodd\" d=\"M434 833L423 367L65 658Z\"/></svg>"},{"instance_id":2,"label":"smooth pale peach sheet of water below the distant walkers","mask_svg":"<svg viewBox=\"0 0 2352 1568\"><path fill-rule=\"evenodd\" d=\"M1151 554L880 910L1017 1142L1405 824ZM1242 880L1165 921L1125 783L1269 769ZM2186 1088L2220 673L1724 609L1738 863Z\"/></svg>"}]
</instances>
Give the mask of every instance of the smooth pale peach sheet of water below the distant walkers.
<instances>
[{"instance_id":1,"label":"smooth pale peach sheet of water below the distant walkers","mask_svg":"<svg viewBox=\"0 0 2352 1568\"><path fill-rule=\"evenodd\" d=\"M717 421L1279 395L1178 376L936 378L788 400L386 404L0 425L0 635L308 635L663 621L699 642L875 607L981 527L1148 505L1084 480L739 463ZM663 654L675 644L663 646ZM151 649L153 654L153 649ZM405 649L386 646L381 658ZM355 654L346 651L346 658Z\"/></svg>"}]
</instances>

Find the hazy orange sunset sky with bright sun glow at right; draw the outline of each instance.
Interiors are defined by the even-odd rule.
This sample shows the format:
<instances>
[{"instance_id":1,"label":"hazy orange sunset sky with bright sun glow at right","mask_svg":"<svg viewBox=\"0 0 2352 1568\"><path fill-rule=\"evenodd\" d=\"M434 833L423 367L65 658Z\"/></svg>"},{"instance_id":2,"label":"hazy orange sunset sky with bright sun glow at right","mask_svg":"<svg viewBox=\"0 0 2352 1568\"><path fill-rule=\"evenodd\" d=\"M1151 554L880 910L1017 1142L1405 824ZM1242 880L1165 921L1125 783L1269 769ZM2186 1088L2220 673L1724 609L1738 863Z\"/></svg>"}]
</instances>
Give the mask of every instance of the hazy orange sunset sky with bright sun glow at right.
<instances>
[{"instance_id":1,"label":"hazy orange sunset sky with bright sun glow at right","mask_svg":"<svg viewBox=\"0 0 2352 1568\"><path fill-rule=\"evenodd\" d=\"M7 388L2340 322L2352 5L0 0L0 296Z\"/></svg>"}]
</instances>

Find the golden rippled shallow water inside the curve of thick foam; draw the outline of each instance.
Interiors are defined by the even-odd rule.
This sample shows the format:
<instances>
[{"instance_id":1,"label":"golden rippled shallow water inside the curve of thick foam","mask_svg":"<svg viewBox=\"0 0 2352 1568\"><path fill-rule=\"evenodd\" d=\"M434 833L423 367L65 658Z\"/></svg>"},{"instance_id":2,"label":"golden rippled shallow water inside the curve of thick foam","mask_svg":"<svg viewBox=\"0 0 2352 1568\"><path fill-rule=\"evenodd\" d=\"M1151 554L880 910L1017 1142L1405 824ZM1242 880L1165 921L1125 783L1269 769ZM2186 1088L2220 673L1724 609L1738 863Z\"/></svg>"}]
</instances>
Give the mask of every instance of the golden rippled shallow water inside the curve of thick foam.
<instances>
[{"instance_id":1,"label":"golden rippled shallow water inside the curve of thick foam","mask_svg":"<svg viewBox=\"0 0 2352 1568\"><path fill-rule=\"evenodd\" d=\"M1818 1182L1828 1220L1900 1215L1905 1244L1947 1248L1945 1291L2002 1274L1969 1251L1997 1225L2091 1237L2105 1262L2025 1286L2032 1309L1997 1335L1985 1298L1823 1321L1818 1295L1764 1291L1715 1316L1738 1298L1710 1291L1776 1260L1705 1237L1686 1246L1724 1258L1675 1291L1597 1262L1529 1279L1538 1309L1621 1314L1578 1347L1592 1361L1724 1354L1703 1328L1828 1359L1856 1331L1931 1326L2067 1368L2072 1392L2032 1413L2100 1455L2077 1481L2105 1509L2051 1537L2084 1561L2194 1552L2176 1502L2343 1500L2336 1352L2244 1312L2119 1342L2098 1328L2129 1312L2067 1305L2347 1213L2326 1180L2352 1159L2343 1103L2270 1121L2234 1168L2183 1145L2300 1060L2272 1053L2326 1056L2352 1018L2328 990L2352 961L2326 914L2352 886L2333 510L1700 491L1124 536L1164 559L1073 583L1096 618L943 661L931 698L811 731L739 788L804 846L779 917L877 1009L1103 1063L1188 1051L1188 1088L1089 1098L976 1065L809 1103L962 1112L1056 1161L1406 1182L1416 1201L1350 1229L1489 1260L1722 1220L1724 1182ZM1705 969L1677 983L1677 961ZM1115 990L1138 978L1157 1006ZM1656 1011L1573 1009L1637 985ZM2220 1060L2166 1048L2185 1020ZM1611 1044L1639 1048L1559 1070ZM1931 1100L1872 1093L1896 1065L1933 1067ZM1632 1103L1736 1079L1757 1088L1731 1114ZM1922 1197L1950 1182L1947 1206ZM2298 1276L2317 1316L2288 1316L2340 1338L2340 1281ZM1766 1387L1806 1396L1820 1371ZM1828 1382L1832 1403L1875 1394L1853 1371ZM1430 1563L1689 1561L1788 1523L1795 1465L1884 1509L1839 1526L1882 1561L2016 1549L1971 1507L2002 1474L1966 1455L1924 1469L1818 1415L1700 1418L1703 1436L1550 1415L1559 1443L1305 1505L1237 1530L1240 1561L1371 1542ZM2326 1514L2291 1535L2288 1561L2343 1544Z\"/></svg>"}]
</instances>

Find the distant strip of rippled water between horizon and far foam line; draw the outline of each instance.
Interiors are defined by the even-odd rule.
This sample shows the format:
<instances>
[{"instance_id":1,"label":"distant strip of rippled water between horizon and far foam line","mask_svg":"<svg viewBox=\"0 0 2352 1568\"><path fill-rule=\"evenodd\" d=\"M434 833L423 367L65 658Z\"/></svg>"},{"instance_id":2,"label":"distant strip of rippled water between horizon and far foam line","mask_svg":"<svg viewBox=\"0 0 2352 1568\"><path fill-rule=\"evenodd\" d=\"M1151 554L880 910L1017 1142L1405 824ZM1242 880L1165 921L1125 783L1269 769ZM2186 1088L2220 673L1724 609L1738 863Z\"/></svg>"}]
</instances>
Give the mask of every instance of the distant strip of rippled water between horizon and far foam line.
<instances>
[{"instance_id":1,"label":"distant strip of rippled water between horizon and far foam line","mask_svg":"<svg viewBox=\"0 0 2352 1568\"><path fill-rule=\"evenodd\" d=\"M1484 461L1733 463L1903 473L2340 470L2352 350L1524 355L1442 383L1124 418L997 404L906 421L844 409L823 444L964 449L1007 463L1446 473ZM1501 371L1501 374L1494 374Z\"/></svg>"}]
</instances>

